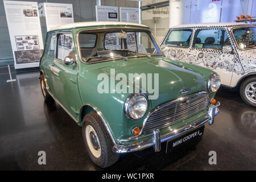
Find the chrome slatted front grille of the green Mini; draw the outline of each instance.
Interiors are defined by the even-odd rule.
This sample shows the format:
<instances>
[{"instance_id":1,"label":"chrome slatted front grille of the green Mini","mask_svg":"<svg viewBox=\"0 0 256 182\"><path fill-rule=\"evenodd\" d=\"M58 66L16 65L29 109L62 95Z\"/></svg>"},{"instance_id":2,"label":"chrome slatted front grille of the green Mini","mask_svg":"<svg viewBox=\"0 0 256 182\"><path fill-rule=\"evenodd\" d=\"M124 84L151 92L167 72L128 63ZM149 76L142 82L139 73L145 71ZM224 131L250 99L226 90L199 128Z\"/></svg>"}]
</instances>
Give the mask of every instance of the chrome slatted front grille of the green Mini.
<instances>
[{"instance_id":1,"label":"chrome slatted front grille of the green Mini","mask_svg":"<svg viewBox=\"0 0 256 182\"><path fill-rule=\"evenodd\" d=\"M200 92L160 105L148 115L148 119L144 123L143 133L166 127L200 113L200 111L207 109L208 101L208 93Z\"/></svg>"}]
</instances>

